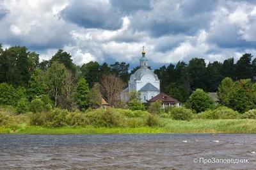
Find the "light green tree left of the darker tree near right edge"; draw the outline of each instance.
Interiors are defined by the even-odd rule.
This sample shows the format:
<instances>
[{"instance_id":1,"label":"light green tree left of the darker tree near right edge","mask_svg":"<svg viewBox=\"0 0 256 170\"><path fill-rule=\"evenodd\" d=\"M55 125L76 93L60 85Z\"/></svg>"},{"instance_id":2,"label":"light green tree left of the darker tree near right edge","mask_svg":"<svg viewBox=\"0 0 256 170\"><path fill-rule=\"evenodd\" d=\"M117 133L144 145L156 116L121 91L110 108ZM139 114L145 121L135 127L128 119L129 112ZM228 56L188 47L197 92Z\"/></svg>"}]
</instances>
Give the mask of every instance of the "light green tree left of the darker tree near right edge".
<instances>
[{"instance_id":1,"label":"light green tree left of the darker tree near right edge","mask_svg":"<svg viewBox=\"0 0 256 170\"><path fill-rule=\"evenodd\" d=\"M221 81L218 87L217 98L220 100L222 105L230 107L230 97L232 95L232 87L234 82L230 77L226 77Z\"/></svg>"}]
</instances>

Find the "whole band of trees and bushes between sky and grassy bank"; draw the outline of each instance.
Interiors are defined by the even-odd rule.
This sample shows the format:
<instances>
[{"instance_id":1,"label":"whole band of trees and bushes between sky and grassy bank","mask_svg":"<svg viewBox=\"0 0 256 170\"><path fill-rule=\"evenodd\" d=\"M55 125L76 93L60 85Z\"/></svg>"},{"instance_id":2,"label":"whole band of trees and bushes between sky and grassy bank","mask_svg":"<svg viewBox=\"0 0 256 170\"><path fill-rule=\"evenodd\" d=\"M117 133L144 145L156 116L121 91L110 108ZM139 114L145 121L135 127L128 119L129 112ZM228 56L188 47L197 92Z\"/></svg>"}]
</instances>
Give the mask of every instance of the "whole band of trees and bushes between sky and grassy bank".
<instances>
[{"instance_id":1,"label":"whole band of trees and bushes between sky and grassy bank","mask_svg":"<svg viewBox=\"0 0 256 170\"><path fill-rule=\"evenodd\" d=\"M152 127L159 125L159 118L256 119L256 58L252 54L243 54L236 63L234 58L208 64L203 58L192 58L188 63L157 68L154 73L161 80L161 92L184 104L164 110L159 102L141 104L136 92L129 94L129 102L120 101L120 92L139 68L129 72L129 66L117 61L77 66L61 49L40 62L39 54L26 47L3 49L0 45L0 125L12 127L8 123L13 121L49 127ZM208 92L218 92L220 101L214 102ZM102 97L115 109L99 109Z\"/></svg>"}]
</instances>

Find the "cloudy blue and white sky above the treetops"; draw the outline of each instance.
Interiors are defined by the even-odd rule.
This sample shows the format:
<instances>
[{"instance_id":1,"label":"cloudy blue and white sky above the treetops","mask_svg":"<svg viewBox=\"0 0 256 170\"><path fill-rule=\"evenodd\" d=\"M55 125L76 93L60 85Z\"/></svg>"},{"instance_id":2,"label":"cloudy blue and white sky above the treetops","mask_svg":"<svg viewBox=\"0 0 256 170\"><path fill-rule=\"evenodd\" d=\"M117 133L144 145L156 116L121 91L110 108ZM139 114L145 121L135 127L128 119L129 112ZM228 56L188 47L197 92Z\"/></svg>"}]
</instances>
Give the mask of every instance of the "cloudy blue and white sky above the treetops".
<instances>
[{"instance_id":1,"label":"cloudy blue and white sky above the treetops","mask_svg":"<svg viewBox=\"0 0 256 170\"><path fill-rule=\"evenodd\" d=\"M256 1L0 0L0 43L50 59L58 49L89 61L149 65L256 55Z\"/></svg>"}]
</instances>

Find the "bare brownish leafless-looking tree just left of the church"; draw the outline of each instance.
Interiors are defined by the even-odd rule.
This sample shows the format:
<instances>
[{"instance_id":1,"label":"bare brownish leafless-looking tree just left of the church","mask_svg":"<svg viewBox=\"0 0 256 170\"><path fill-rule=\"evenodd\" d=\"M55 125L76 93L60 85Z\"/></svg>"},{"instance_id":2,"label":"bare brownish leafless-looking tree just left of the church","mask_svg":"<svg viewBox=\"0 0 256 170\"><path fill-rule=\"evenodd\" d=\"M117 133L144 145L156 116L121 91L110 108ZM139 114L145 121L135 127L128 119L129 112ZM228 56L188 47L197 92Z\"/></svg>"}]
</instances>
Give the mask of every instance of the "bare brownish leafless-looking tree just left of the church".
<instances>
[{"instance_id":1,"label":"bare brownish leafless-looking tree just left of the church","mask_svg":"<svg viewBox=\"0 0 256 170\"><path fill-rule=\"evenodd\" d=\"M107 98L109 105L115 107L120 101L120 95L125 88L125 83L113 74L104 75L101 80L102 95Z\"/></svg>"}]
</instances>

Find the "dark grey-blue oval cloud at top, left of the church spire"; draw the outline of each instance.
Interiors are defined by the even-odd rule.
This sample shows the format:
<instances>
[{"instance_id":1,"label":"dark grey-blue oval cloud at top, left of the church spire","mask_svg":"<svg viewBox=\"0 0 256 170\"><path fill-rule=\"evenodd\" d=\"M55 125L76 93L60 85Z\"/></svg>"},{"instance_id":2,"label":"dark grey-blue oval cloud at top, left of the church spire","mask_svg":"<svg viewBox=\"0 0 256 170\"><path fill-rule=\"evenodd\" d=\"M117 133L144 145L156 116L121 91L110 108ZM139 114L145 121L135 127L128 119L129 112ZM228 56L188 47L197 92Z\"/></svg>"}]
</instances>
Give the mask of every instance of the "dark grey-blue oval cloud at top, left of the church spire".
<instances>
[{"instance_id":1,"label":"dark grey-blue oval cloud at top, left of the church spire","mask_svg":"<svg viewBox=\"0 0 256 170\"><path fill-rule=\"evenodd\" d=\"M72 1L62 12L63 19L85 28L115 30L122 26L122 15L107 3Z\"/></svg>"}]
</instances>

